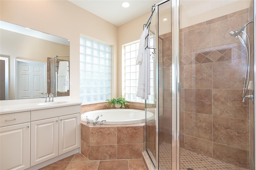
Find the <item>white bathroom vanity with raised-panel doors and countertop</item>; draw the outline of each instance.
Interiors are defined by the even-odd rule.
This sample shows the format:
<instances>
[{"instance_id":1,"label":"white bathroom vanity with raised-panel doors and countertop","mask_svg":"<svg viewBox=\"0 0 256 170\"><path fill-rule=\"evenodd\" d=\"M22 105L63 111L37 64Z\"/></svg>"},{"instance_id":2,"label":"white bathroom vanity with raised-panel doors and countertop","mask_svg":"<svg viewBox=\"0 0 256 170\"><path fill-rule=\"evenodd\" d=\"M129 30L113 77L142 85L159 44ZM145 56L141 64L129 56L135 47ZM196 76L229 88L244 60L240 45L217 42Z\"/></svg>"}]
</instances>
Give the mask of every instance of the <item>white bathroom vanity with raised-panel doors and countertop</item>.
<instances>
[{"instance_id":1,"label":"white bathroom vanity with raised-panel doors and countertop","mask_svg":"<svg viewBox=\"0 0 256 170\"><path fill-rule=\"evenodd\" d=\"M79 102L20 105L1 103L0 169L23 170L30 167L37 169L38 164L46 166L56 159L78 152L80 104ZM48 163L45 163L46 161Z\"/></svg>"}]
</instances>

